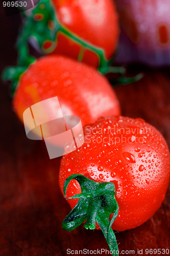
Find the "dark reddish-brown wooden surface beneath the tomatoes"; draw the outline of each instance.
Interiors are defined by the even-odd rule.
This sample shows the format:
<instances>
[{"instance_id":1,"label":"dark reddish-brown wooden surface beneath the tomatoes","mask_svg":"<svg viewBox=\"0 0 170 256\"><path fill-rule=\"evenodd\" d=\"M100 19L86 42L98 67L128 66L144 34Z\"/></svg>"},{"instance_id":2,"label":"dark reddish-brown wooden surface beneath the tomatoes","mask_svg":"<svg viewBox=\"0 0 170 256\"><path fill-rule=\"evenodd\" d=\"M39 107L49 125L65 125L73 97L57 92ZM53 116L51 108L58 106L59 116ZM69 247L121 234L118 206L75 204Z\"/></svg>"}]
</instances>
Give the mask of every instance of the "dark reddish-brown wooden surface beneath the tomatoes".
<instances>
[{"instance_id":1,"label":"dark reddish-brown wooden surface beneath the tomatoes","mask_svg":"<svg viewBox=\"0 0 170 256\"><path fill-rule=\"evenodd\" d=\"M0 22L2 72L16 63L14 42L20 20L18 16L5 17L1 8ZM170 146L169 69L142 69L145 77L140 82L115 88L122 114L145 119ZM67 248L108 249L100 230L85 230L82 226L72 232L62 229L70 208L58 186L60 158L50 160L43 142L27 139L12 111L8 84L1 81L0 90L0 255L65 256ZM145 248L169 248L169 205L168 189L161 208L148 222L116 232L120 252L127 250L130 254L134 250L133 255L139 255L137 250L143 249L141 255L147 255Z\"/></svg>"}]
</instances>

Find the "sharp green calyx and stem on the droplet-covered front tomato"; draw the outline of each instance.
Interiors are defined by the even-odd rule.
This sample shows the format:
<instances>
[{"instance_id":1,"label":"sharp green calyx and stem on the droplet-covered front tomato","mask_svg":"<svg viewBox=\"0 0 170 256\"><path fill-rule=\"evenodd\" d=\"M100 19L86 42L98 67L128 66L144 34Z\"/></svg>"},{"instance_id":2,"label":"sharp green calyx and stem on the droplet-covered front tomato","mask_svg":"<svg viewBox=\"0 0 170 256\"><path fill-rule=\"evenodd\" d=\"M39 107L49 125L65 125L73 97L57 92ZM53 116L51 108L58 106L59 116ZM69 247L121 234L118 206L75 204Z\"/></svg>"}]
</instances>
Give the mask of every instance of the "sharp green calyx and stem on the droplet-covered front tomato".
<instances>
[{"instance_id":1,"label":"sharp green calyx and stem on the droplet-covered front tomato","mask_svg":"<svg viewBox=\"0 0 170 256\"><path fill-rule=\"evenodd\" d=\"M118 214L118 204L115 200L115 187L111 182L99 183L92 181L83 175L73 174L64 182L64 195L69 182L75 179L81 186L81 194L67 199L79 199L77 205L70 211L63 220L62 227L71 231L85 222L86 229L95 229L95 223L98 223L105 236L107 244L112 255L118 255L118 246L115 234L111 228ZM111 221L110 215L113 214Z\"/></svg>"}]
</instances>

